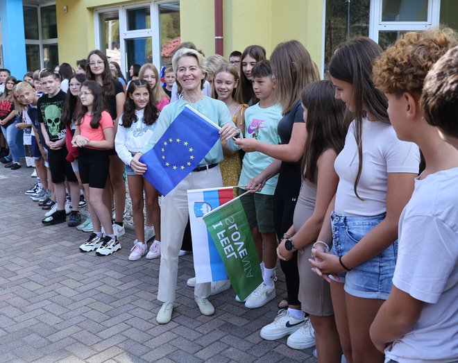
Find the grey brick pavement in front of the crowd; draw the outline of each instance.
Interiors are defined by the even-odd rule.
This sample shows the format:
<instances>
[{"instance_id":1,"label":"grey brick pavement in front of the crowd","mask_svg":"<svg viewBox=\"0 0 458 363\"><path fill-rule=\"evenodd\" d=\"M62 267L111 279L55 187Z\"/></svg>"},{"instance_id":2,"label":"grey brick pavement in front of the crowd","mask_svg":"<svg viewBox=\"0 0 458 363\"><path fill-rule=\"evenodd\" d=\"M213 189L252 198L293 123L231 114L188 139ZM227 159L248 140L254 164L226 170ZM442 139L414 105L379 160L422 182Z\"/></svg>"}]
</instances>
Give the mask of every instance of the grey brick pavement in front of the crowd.
<instances>
[{"instance_id":1,"label":"grey brick pavement in front of the crowd","mask_svg":"<svg viewBox=\"0 0 458 363\"><path fill-rule=\"evenodd\" d=\"M203 316L186 286L194 270L185 255L173 320L160 326L159 260L127 260L132 230L114 255L80 253L86 233L42 226L44 212L24 194L31 172L0 165L0 362L316 362L312 349L260 338L285 295L280 269L268 305L248 310L229 289L210 297L216 312Z\"/></svg>"}]
</instances>

